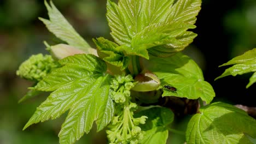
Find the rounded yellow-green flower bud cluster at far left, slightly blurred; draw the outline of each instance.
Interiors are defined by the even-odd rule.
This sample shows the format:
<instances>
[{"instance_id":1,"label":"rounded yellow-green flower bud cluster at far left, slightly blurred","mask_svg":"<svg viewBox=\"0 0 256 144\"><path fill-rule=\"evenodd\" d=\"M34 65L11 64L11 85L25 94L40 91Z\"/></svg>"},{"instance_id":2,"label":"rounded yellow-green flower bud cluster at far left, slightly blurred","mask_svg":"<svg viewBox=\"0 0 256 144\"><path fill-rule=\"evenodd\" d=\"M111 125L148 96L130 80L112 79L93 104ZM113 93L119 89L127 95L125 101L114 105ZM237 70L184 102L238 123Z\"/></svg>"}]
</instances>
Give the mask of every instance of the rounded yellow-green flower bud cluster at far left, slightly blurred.
<instances>
[{"instance_id":1,"label":"rounded yellow-green flower bud cluster at far left, slightly blurred","mask_svg":"<svg viewBox=\"0 0 256 144\"><path fill-rule=\"evenodd\" d=\"M50 55L43 56L42 53L32 55L19 67L16 74L20 77L31 80L40 81L54 68L59 67L59 64L54 61Z\"/></svg>"}]
</instances>

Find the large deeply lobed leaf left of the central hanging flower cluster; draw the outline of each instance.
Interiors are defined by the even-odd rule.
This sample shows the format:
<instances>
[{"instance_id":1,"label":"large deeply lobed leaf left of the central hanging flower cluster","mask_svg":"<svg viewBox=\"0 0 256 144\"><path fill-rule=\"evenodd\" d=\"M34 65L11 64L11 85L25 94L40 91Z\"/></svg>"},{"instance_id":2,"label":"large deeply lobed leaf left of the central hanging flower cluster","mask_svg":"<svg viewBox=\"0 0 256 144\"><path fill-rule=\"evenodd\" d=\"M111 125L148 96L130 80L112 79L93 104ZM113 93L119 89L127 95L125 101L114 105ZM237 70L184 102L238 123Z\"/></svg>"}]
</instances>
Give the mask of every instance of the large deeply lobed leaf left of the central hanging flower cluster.
<instances>
[{"instance_id":1,"label":"large deeply lobed leaf left of the central hanging flower cluster","mask_svg":"<svg viewBox=\"0 0 256 144\"><path fill-rule=\"evenodd\" d=\"M54 70L35 87L38 91L54 91L37 107L25 125L60 117L69 110L59 134L60 143L74 143L89 133L96 121L102 130L114 115L109 97L110 76L106 64L94 55L74 55L59 61L62 68Z\"/></svg>"}]
</instances>

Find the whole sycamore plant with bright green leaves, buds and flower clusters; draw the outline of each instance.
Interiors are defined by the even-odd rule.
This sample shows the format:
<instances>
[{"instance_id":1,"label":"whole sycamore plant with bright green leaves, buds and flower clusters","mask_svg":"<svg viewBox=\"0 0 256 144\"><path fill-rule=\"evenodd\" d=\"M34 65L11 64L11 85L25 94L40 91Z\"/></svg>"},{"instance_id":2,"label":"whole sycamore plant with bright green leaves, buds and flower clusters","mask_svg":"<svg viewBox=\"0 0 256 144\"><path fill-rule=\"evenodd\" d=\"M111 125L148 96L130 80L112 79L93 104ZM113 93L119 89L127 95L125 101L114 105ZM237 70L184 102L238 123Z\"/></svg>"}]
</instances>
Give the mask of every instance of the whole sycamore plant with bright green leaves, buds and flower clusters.
<instances>
[{"instance_id":1,"label":"whole sycamore plant with bright green leaves, buds and flower clusters","mask_svg":"<svg viewBox=\"0 0 256 144\"><path fill-rule=\"evenodd\" d=\"M179 100L192 105L186 110L193 114L187 143L253 143L255 119L230 104L211 103L213 87L182 53L197 36L193 29L201 0L107 0L113 41L92 39L95 49L53 2L45 6L49 20L39 20L66 43L44 42L49 55L33 55L17 71L34 82L20 102L50 92L24 130L68 111L60 143L75 143L94 123L97 131L106 130L109 143L166 143L170 124L180 114L173 109ZM217 79L254 72L247 87L253 85L256 49L223 65L230 64Z\"/></svg>"}]
</instances>

